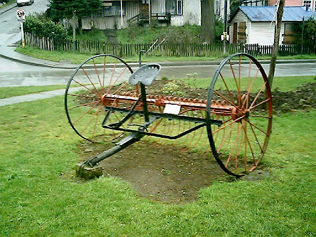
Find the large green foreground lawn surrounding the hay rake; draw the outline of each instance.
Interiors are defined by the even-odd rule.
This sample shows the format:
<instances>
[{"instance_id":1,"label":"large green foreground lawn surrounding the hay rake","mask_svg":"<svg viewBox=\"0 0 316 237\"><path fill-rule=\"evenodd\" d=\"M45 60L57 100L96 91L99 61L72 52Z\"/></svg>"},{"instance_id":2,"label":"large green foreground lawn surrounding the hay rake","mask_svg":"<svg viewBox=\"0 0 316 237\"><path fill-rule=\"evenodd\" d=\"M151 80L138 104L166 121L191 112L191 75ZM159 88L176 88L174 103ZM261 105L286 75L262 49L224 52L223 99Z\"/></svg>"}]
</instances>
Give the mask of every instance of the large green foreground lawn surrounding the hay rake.
<instances>
[{"instance_id":1,"label":"large green foreground lawn surrounding the hay rake","mask_svg":"<svg viewBox=\"0 0 316 237\"><path fill-rule=\"evenodd\" d=\"M197 201L170 205L118 178L72 179L81 139L63 103L0 107L0 236L316 235L316 110L274 117L262 161L270 176L214 182Z\"/></svg>"}]
</instances>

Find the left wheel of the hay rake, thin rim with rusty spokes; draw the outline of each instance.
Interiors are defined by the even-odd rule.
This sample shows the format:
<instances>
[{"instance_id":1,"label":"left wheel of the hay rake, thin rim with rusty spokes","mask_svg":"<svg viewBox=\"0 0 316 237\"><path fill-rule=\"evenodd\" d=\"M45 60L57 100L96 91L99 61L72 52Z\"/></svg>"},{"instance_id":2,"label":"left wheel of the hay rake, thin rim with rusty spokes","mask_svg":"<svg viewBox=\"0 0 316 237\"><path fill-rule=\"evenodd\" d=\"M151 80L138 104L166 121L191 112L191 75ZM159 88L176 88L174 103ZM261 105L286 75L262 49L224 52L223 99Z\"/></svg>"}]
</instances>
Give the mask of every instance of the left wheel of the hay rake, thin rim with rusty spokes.
<instances>
[{"instance_id":1,"label":"left wheel of the hay rake, thin rim with rusty spokes","mask_svg":"<svg viewBox=\"0 0 316 237\"><path fill-rule=\"evenodd\" d=\"M65 111L80 137L94 142L105 134L102 121L107 111L102 96L136 93L137 87L128 84L132 73L123 60L109 54L92 56L77 67L66 87Z\"/></svg>"}]
</instances>

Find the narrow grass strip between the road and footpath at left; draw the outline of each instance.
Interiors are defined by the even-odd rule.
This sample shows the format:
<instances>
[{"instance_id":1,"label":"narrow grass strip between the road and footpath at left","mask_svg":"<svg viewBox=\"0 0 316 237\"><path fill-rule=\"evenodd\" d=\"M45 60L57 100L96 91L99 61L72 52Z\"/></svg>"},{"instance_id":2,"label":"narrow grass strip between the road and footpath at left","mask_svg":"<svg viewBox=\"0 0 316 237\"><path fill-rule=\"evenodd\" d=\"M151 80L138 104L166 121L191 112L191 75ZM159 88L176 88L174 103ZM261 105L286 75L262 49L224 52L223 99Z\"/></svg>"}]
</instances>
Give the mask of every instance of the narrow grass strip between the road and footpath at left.
<instances>
[{"instance_id":1,"label":"narrow grass strip between the road and footpath at left","mask_svg":"<svg viewBox=\"0 0 316 237\"><path fill-rule=\"evenodd\" d=\"M64 88L66 88L66 85L0 87L0 99Z\"/></svg>"}]
</instances>

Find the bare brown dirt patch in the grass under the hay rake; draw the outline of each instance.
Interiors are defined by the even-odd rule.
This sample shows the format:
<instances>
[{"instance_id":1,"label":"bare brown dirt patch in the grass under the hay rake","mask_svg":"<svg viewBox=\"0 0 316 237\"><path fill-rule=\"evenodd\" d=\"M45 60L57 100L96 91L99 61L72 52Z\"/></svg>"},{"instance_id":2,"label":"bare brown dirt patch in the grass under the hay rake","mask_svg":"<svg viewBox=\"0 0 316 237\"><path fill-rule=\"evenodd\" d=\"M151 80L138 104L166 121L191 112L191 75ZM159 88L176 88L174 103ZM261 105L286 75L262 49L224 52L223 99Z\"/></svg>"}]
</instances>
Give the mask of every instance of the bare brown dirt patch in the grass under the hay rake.
<instances>
[{"instance_id":1,"label":"bare brown dirt patch in the grass under the hay rake","mask_svg":"<svg viewBox=\"0 0 316 237\"><path fill-rule=\"evenodd\" d=\"M82 159L86 159L112 145L83 142L79 150ZM177 147L146 140L102 160L100 164L105 176L131 183L140 197L168 203L195 200L201 188L225 175L210 152L181 152Z\"/></svg>"}]
</instances>

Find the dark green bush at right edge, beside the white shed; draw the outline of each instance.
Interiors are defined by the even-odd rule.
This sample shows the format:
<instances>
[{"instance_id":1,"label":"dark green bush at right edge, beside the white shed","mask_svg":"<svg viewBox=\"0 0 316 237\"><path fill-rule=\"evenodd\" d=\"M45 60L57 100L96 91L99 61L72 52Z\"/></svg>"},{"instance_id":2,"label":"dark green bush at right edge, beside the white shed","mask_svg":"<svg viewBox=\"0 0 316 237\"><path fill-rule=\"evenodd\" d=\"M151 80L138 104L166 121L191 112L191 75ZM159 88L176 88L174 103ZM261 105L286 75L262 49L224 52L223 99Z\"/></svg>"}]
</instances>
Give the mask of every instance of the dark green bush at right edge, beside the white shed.
<instances>
[{"instance_id":1,"label":"dark green bush at right edge, beside the white shed","mask_svg":"<svg viewBox=\"0 0 316 237\"><path fill-rule=\"evenodd\" d=\"M302 43L302 29L302 23L295 24L293 28L294 37L298 44ZM316 19L314 19L313 17L304 22L303 44L316 44Z\"/></svg>"}]
</instances>

